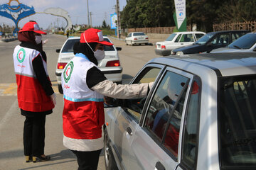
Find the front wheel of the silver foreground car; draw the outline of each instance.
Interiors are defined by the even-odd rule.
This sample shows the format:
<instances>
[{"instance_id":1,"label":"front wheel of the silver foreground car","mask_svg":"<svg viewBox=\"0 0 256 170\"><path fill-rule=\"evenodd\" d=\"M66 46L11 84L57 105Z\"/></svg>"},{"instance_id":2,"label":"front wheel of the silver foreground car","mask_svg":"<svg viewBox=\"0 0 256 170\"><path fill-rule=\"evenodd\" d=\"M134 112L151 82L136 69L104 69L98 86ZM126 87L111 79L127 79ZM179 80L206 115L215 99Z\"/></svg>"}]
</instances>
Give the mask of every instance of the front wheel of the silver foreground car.
<instances>
[{"instance_id":1,"label":"front wheel of the silver foreground car","mask_svg":"<svg viewBox=\"0 0 256 170\"><path fill-rule=\"evenodd\" d=\"M107 135L107 128L104 130L104 160L106 170L118 169L117 164L114 161L112 149L110 147L110 139Z\"/></svg>"}]
</instances>

